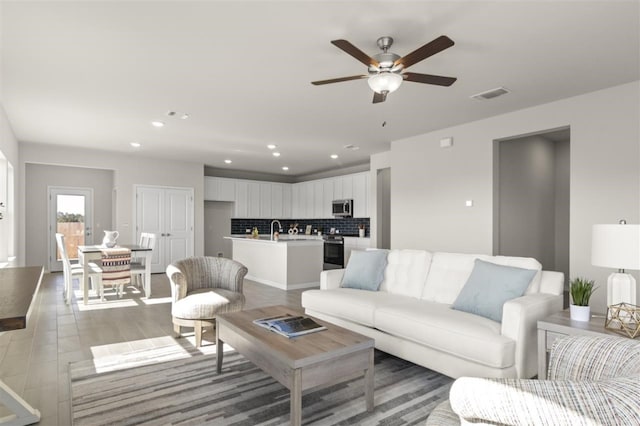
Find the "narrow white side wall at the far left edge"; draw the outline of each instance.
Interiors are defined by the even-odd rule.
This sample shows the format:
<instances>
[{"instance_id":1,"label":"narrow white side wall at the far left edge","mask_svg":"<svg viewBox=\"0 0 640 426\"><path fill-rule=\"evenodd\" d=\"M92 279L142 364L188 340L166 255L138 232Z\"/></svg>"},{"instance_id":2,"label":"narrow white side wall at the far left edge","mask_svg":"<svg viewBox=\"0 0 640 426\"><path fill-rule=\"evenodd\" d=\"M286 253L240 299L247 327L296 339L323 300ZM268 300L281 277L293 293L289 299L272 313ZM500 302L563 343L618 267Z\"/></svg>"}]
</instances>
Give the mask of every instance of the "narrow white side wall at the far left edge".
<instances>
[{"instance_id":1,"label":"narrow white side wall at the far left edge","mask_svg":"<svg viewBox=\"0 0 640 426\"><path fill-rule=\"evenodd\" d=\"M12 200L0 200L8 207L5 209L5 219L0 221L0 262L3 262L6 256L18 254L18 239L14 238L18 235L20 226L20 218L22 216L13 214L12 212L20 211L21 197L18 194L18 185L20 179L17 175L18 167L18 140L13 134L9 119L0 103L0 157L4 157L4 173L6 174L10 168L13 168L13 176L5 176L3 181L7 182L7 187L3 191L8 197L13 195ZM24 256L16 259L16 264L21 265L24 262Z\"/></svg>"}]
</instances>

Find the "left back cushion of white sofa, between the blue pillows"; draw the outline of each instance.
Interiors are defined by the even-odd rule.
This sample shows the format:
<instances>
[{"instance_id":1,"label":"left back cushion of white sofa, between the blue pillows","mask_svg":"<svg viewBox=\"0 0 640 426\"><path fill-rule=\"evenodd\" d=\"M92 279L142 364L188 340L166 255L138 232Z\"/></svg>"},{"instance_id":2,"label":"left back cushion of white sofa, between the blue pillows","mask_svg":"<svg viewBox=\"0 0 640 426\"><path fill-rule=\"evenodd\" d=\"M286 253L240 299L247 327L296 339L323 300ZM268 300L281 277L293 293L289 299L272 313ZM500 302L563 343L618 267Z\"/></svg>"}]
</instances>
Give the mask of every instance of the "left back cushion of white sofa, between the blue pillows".
<instances>
[{"instance_id":1,"label":"left back cushion of white sofa, between the blue pillows","mask_svg":"<svg viewBox=\"0 0 640 426\"><path fill-rule=\"evenodd\" d=\"M391 250L381 291L419 298L431 266L431 253L425 250Z\"/></svg>"}]
</instances>

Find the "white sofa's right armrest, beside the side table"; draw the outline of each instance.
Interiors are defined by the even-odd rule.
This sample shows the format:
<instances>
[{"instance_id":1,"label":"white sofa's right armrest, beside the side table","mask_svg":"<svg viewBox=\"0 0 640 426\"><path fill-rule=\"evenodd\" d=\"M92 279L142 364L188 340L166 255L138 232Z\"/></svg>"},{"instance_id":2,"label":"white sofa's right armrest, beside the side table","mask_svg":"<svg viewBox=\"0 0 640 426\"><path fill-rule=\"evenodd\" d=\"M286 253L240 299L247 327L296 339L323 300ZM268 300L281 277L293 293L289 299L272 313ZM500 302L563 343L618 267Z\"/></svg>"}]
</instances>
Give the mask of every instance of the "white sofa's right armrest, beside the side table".
<instances>
[{"instance_id":1,"label":"white sofa's right armrest, beside the side table","mask_svg":"<svg viewBox=\"0 0 640 426\"><path fill-rule=\"evenodd\" d=\"M535 293L509 300L502 307L502 335L516 342L519 378L538 372L538 320L562 310L562 294Z\"/></svg>"}]
</instances>

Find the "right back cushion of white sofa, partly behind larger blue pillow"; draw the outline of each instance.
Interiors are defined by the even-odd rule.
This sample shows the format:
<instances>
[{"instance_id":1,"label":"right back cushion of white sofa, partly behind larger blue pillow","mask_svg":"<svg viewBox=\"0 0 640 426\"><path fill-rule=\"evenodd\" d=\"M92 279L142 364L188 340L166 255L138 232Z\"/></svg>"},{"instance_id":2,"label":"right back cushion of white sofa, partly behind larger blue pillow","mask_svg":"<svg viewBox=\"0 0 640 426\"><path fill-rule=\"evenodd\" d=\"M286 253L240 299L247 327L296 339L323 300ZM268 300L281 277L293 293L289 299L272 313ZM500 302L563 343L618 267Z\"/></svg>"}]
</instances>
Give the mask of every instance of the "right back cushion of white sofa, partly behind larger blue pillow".
<instances>
[{"instance_id":1,"label":"right back cushion of white sofa, partly behind larger blue pillow","mask_svg":"<svg viewBox=\"0 0 640 426\"><path fill-rule=\"evenodd\" d=\"M438 252L433 253L429 276L421 297L432 302L452 304L469 279L476 259L536 270L537 273L524 294L539 292L542 265L533 258Z\"/></svg>"}]
</instances>

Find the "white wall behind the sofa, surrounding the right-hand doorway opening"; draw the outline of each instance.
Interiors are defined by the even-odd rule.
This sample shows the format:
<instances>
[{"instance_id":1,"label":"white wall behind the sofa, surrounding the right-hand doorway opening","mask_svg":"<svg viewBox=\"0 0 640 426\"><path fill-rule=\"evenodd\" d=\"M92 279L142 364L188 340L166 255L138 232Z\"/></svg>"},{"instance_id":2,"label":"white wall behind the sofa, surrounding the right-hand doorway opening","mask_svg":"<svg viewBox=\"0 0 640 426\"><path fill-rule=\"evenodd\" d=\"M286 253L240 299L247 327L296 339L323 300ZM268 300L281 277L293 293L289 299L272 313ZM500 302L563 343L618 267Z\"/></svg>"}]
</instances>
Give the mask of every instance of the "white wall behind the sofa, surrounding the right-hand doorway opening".
<instances>
[{"instance_id":1,"label":"white wall behind the sofa, surrounding the right-hand doorway opening","mask_svg":"<svg viewBox=\"0 0 640 426\"><path fill-rule=\"evenodd\" d=\"M613 271L591 266L591 227L640 223L639 99L636 81L392 142L391 246L492 253L493 141L569 126L570 270L596 280L592 306L604 312Z\"/></svg>"}]
</instances>

